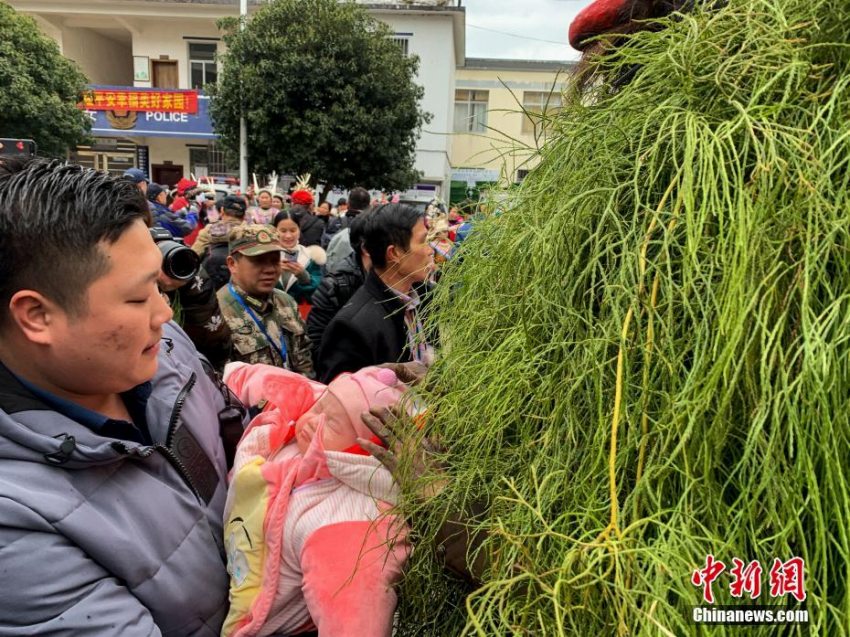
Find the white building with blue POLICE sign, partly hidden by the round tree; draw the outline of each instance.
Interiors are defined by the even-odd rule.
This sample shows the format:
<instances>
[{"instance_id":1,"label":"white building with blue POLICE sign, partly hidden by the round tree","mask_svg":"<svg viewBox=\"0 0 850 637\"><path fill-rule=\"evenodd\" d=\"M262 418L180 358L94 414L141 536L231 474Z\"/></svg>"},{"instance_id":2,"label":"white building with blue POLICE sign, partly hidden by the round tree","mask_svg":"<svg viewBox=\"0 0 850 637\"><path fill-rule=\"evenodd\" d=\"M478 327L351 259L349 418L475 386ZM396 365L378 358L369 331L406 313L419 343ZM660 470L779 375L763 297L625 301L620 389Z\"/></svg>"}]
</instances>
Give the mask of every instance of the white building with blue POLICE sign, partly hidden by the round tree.
<instances>
[{"instance_id":1,"label":"white building with blue POLICE sign, partly hidden by the round tree","mask_svg":"<svg viewBox=\"0 0 850 637\"><path fill-rule=\"evenodd\" d=\"M88 109L95 144L77 149L76 161L113 172L137 166L154 181L167 184L190 173L236 174L216 145L208 99L198 89L218 71L214 56L222 42L216 21L238 15L239 0L10 0L10 4L32 15L63 55L80 65L96 90L99 101ZM257 4L258 0L250 0L252 10ZM362 4L390 26L399 46L420 57L422 108L433 119L416 149L416 168L423 175L418 188L444 195L451 175L455 68L464 60L465 9L461 0Z\"/></svg>"}]
</instances>

